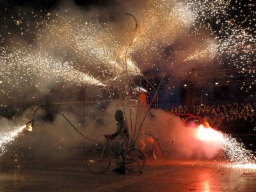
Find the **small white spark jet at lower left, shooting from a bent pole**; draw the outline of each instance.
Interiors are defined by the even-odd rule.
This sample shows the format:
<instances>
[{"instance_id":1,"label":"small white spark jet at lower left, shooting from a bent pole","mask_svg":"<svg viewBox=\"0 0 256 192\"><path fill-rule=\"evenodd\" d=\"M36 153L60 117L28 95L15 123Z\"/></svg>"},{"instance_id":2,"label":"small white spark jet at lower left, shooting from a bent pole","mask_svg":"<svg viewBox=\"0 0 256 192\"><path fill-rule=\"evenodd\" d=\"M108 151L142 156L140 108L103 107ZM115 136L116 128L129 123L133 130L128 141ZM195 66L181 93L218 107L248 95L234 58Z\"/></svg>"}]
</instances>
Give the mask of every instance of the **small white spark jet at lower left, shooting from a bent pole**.
<instances>
[{"instance_id":1,"label":"small white spark jet at lower left, shooting from a bent pole","mask_svg":"<svg viewBox=\"0 0 256 192\"><path fill-rule=\"evenodd\" d=\"M20 132L26 129L26 125L15 127L12 131L0 133L0 157L6 152L6 145L11 144Z\"/></svg>"}]
</instances>

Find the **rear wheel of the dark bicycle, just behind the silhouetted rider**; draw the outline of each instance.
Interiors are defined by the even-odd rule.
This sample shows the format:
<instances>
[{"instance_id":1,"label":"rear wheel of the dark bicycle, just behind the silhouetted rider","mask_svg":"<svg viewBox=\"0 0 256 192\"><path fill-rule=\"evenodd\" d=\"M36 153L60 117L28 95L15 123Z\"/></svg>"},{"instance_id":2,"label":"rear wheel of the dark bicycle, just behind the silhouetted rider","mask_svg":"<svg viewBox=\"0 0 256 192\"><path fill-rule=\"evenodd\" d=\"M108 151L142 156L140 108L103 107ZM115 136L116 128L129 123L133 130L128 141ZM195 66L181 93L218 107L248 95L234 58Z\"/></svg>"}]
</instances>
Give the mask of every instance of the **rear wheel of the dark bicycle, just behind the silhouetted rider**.
<instances>
[{"instance_id":1,"label":"rear wheel of the dark bicycle, just behind the silhouetted rider","mask_svg":"<svg viewBox=\"0 0 256 192\"><path fill-rule=\"evenodd\" d=\"M125 169L128 172L138 172L145 164L145 155L138 148L130 148L125 155Z\"/></svg>"}]
</instances>

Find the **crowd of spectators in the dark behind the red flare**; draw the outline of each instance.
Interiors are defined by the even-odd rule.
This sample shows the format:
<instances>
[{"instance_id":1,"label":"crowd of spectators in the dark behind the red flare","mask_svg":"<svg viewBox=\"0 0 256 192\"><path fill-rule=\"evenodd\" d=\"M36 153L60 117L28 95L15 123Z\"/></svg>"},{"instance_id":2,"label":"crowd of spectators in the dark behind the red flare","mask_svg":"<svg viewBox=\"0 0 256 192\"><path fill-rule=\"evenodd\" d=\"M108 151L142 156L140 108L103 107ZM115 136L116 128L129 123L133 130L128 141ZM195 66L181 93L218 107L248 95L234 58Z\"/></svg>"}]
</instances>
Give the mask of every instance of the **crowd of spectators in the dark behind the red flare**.
<instances>
[{"instance_id":1,"label":"crowd of spectators in the dark behind the red flare","mask_svg":"<svg viewBox=\"0 0 256 192\"><path fill-rule=\"evenodd\" d=\"M182 118L193 114L206 120L211 127L230 134L256 134L256 103L196 105L175 107L171 113Z\"/></svg>"}]
</instances>

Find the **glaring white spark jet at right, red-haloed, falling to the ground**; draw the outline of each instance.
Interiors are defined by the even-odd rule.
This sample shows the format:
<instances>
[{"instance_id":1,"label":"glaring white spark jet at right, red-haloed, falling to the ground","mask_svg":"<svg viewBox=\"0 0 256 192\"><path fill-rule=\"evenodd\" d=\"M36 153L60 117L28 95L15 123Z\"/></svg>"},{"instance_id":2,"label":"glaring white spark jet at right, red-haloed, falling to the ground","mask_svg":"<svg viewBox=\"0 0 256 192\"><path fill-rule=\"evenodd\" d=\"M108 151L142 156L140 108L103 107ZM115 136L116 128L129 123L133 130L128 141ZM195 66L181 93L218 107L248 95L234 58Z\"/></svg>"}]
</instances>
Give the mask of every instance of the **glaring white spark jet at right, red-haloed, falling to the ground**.
<instances>
[{"instance_id":1,"label":"glaring white spark jet at right, red-haloed, falling to the ground","mask_svg":"<svg viewBox=\"0 0 256 192\"><path fill-rule=\"evenodd\" d=\"M237 142L232 136L215 131L211 127L205 128L200 125L197 131L197 138L202 141L219 143L220 149L227 153L228 161L232 162L226 166L232 168L256 168L256 158L253 152L246 150L243 143Z\"/></svg>"}]
</instances>

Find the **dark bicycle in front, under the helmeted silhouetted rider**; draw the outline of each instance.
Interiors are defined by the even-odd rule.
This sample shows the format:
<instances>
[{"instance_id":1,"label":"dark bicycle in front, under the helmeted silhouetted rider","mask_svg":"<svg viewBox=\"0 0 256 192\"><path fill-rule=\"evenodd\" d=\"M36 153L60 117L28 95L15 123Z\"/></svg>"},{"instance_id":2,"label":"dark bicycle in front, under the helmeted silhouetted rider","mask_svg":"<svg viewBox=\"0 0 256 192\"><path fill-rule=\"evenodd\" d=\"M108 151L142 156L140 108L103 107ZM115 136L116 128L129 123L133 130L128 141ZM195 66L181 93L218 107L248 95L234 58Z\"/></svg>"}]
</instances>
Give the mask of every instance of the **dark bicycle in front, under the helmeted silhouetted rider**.
<instances>
[{"instance_id":1,"label":"dark bicycle in front, under the helmeted silhouetted rider","mask_svg":"<svg viewBox=\"0 0 256 192\"><path fill-rule=\"evenodd\" d=\"M115 157L115 152L109 147L109 140L107 139L103 146L97 146L88 153L86 166L92 173L104 173L111 164L111 157ZM145 164L145 156L140 149L131 146L125 149L124 157L125 169L128 172L142 173L142 168Z\"/></svg>"}]
</instances>

